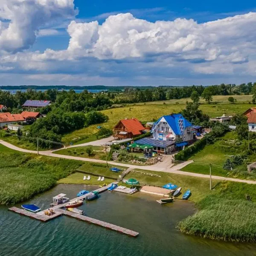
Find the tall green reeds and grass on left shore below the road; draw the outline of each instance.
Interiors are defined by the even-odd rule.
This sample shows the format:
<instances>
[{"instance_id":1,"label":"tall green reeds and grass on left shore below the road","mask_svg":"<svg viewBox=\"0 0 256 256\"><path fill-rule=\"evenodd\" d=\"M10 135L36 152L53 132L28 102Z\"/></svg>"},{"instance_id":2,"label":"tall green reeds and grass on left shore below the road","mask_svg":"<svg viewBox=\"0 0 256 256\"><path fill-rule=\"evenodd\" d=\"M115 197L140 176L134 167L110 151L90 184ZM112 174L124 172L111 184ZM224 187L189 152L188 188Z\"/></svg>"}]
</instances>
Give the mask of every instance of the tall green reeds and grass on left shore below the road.
<instances>
[{"instance_id":1,"label":"tall green reeds and grass on left shore below the road","mask_svg":"<svg viewBox=\"0 0 256 256\"><path fill-rule=\"evenodd\" d=\"M20 153L0 145L0 204L16 204L55 186L82 162Z\"/></svg>"}]
</instances>

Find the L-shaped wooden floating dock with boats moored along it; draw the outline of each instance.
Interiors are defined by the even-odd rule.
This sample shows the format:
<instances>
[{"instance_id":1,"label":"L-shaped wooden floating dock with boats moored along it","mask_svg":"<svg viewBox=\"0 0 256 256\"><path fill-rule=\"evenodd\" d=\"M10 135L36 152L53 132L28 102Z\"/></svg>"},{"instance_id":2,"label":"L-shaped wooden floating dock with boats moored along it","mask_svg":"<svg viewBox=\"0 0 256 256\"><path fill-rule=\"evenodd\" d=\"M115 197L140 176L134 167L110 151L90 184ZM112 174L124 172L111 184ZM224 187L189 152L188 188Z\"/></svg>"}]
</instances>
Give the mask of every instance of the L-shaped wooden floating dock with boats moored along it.
<instances>
[{"instance_id":1,"label":"L-shaped wooden floating dock with boats moored along it","mask_svg":"<svg viewBox=\"0 0 256 256\"><path fill-rule=\"evenodd\" d=\"M96 189L94 191L97 191L97 192L101 193L101 192L106 191L110 186L111 186L111 184L109 184L107 186L104 186L102 188ZM87 197L91 193L92 192L90 192L86 195L82 195L82 196L79 196L77 198L71 199L70 201L74 201L76 199L78 199L78 200L85 199L86 200ZM95 225L98 225L98 226L101 226L101 227L108 228L110 230L117 231L119 233L122 233L122 234L125 234L125 235L128 235L128 236L137 237L139 235L138 232L135 232L133 230L129 230L129 229L126 229L124 227L119 227L119 226L116 226L114 224L110 224L110 223L105 222L105 221L99 221L99 220L96 220L94 218L90 218L90 217L87 217L87 216L84 216L84 215L80 215L78 213L69 212L69 211L66 211L65 209L61 209L61 208L65 207L67 203L58 204L58 205L55 205L53 207L50 207L54 211L54 214L49 215L49 216L44 214L44 212L48 211L48 209L45 209L41 212L33 213L33 212L29 212L29 211L26 211L24 209L20 209L20 208L17 208L17 207L11 207L11 208L9 208L9 211L16 212L16 213L19 213L20 215L27 216L29 218L34 218L34 219L37 219L37 220L43 221L43 222L52 220L52 219L57 218L61 215L66 215L66 216L76 218L76 219L81 220L81 221L86 221L86 222L91 223L91 224L95 224Z\"/></svg>"}]
</instances>

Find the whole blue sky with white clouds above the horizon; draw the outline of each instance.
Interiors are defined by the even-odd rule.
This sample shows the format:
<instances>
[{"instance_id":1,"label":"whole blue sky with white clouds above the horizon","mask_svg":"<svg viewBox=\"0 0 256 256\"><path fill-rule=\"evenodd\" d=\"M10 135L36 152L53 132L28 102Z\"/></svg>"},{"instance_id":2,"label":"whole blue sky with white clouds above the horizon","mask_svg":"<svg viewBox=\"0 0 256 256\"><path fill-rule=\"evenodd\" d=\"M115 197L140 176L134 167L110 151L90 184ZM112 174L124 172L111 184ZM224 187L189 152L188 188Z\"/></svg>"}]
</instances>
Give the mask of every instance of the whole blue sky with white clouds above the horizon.
<instances>
[{"instance_id":1,"label":"whole blue sky with white clouds above the horizon","mask_svg":"<svg viewBox=\"0 0 256 256\"><path fill-rule=\"evenodd\" d=\"M0 85L256 81L256 2L1 0Z\"/></svg>"}]
</instances>

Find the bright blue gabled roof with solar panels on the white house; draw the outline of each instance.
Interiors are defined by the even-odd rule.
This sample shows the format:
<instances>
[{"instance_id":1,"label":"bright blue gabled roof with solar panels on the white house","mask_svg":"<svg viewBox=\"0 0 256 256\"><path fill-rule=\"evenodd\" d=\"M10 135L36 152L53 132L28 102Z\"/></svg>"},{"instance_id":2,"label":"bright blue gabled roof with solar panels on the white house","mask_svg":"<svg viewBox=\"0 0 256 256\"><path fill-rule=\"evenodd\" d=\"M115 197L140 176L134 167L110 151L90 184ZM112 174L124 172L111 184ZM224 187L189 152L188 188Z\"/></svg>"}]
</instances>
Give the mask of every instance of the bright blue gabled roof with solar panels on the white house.
<instances>
[{"instance_id":1,"label":"bright blue gabled roof with solar panels on the white house","mask_svg":"<svg viewBox=\"0 0 256 256\"><path fill-rule=\"evenodd\" d=\"M180 113L172 114L169 116L161 116L157 122L155 122L151 131L157 126L157 124L162 120L165 119L168 125L172 128L172 131L176 134L183 134L185 128L192 126L192 124Z\"/></svg>"}]
</instances>

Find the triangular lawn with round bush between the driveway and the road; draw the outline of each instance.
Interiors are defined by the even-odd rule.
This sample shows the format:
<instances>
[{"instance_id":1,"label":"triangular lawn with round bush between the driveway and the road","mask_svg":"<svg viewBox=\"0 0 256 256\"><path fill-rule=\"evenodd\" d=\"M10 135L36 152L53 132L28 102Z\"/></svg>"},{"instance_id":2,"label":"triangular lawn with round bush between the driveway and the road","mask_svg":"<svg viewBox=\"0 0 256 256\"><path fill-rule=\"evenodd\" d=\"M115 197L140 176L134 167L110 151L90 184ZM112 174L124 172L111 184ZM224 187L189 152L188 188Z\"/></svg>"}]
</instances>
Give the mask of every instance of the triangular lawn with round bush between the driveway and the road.
<instances>
[{"instance_id":1,"label":"triangular lawn with round bush between the driveway and the road","mask_svg":"<svg viewBox=\"0 0 256 256\"><path fill-rule=\"evenodd\" d=\"M93 149L93 155L89 156L86 153L86 148L92 148ZM103 147L101 146L84 146L84 147L76 147L76 148L67 148L67 149L60 149L58 151L55 151L55 154L64 154L68 156L75 156L75 157L85 157L85 158L93 158L93 159L100 159L105 160L106 154L105 152L97 152L102 151Z\"/></svg>"}]
</instances>

